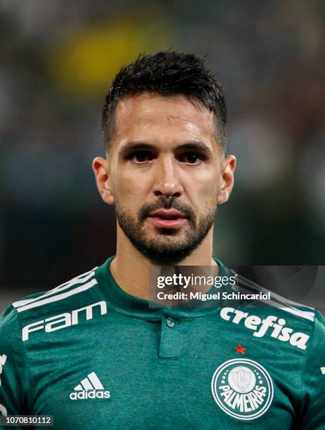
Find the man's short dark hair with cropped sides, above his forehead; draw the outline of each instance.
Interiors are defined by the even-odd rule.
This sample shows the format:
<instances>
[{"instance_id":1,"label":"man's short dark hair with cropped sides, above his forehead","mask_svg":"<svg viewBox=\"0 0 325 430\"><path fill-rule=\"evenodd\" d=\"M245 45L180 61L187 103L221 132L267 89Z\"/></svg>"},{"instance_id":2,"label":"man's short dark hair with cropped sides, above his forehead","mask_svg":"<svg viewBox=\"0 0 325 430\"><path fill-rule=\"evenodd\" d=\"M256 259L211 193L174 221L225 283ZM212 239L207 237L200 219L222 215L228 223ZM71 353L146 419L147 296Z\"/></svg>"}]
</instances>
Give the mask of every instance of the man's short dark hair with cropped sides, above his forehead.
<instances>
[{"instance_id":1,"label":"man's short dark hair with cropped sides, above his forehead","mask_svg":"<svg viewBox=\"0 0 325 430\"><path fill-rule=\"evenodd\" d=\"M122 67L107 93L102 110L102 137L110 149L114 112L120 100L139 93L184 95L213 112L220 149L225 151L227 108L223 88L205 65L205 58L175 51L140 55Z\"/></svg>"}]
</instances>

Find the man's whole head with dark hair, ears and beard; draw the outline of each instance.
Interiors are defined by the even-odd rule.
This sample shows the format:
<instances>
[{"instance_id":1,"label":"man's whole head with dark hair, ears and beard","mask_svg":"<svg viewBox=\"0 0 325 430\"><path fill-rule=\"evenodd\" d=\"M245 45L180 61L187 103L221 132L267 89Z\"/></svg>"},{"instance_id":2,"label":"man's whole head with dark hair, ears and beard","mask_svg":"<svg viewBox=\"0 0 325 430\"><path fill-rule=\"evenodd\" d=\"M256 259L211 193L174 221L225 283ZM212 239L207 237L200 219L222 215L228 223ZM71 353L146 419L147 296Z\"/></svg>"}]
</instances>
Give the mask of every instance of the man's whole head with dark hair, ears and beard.
<instances>
[{"instance_id":1,"label":"man's whole head with dark hair, ears and beard","mask_svg":"<svg viewBox=\"0 0 325 430\"><path fill-rule=\"evenodd\" d=\"M119 72L103 112L107 159L93 162L102 199L116 207L118 242L175 264L212 237L235 167L224 155L225 112L195 56L157 53Z\"/></svg>"}]
</instances>

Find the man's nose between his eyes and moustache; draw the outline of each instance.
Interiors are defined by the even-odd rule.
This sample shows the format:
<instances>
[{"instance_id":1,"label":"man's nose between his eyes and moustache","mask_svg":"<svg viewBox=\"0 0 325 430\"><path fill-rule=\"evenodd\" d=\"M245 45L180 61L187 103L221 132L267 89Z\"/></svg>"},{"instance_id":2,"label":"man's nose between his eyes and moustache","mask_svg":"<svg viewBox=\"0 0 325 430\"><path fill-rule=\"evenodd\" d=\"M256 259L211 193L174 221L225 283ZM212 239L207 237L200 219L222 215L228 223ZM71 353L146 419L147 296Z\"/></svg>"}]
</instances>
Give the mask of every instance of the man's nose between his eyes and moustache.
<instances>
[{"instance_id":1,"label":"man's nose between his eyes and moustache","mask_svg":"<svg viewBox=\"0 0 325 430\"><path fill-rule=\"evenodd\" d=\"M154 176L155 180L152 188L154 195L180 197L183 194L180 171L178 171L177 160L173 157L164 157L157 160Z\"/></svg>"}]
</instances>

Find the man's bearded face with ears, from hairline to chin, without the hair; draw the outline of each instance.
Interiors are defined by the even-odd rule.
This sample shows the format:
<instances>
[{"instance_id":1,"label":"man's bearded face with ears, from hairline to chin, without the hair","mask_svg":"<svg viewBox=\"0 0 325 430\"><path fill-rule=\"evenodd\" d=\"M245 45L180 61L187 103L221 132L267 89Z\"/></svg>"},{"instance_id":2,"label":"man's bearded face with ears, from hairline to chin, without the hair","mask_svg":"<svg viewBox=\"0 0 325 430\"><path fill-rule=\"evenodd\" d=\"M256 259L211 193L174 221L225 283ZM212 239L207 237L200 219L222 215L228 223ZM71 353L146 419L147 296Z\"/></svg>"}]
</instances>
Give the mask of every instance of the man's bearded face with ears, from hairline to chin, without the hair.
<instances>
[{"instance_id":1,"label":"man's bearded face with ears, from hairline to chin, without the hair","mask_svg":"<svg viewBox=\"0 0 325 430\"><path fill-rule=\"evenodd\" d=\"M110 152L93 168L133 246L154 263L175 264L211 230L218 203L230 194L234 162L220 152L205 107L145 93L118 103Z\"/></svg>"}]
</instances>

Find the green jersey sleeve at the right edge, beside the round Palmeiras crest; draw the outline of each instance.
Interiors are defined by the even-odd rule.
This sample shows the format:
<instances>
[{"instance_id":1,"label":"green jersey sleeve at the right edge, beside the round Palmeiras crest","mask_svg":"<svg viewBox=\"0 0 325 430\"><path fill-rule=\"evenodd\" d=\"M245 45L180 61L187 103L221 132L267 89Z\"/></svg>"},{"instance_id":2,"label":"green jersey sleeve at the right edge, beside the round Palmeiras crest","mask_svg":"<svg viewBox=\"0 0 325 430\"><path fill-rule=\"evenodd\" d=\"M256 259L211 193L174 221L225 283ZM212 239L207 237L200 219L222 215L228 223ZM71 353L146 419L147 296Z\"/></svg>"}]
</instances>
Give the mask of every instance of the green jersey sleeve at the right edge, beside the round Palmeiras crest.
<instances>
[{"instance_id":1,"label":"green jersey sleeve at the right edge, beside the round Palmeiras crest","mask_svg":"<svg viewBox=\"0 0 325 430\"><path fill-rule=\"evenodd\" d=\"M302 389L305 406L300 428L325 429L325 318L318 311L315 313Z\"/></svg>"}]
</instances>

